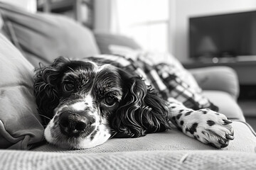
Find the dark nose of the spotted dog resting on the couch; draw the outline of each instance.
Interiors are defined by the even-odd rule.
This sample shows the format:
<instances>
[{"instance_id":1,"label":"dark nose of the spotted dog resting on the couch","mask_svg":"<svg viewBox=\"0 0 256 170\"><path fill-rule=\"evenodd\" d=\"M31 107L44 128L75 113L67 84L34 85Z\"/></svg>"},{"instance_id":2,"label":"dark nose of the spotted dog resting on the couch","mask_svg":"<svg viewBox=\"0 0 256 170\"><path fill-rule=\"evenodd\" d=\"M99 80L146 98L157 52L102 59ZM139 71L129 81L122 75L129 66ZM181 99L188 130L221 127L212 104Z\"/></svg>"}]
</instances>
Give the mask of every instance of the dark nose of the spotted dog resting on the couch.
<instances>
[{"instance_id":1,"label":"dark nose of the spotted dog resting on the couch","mask_svg":"<svg viewBox=\"0 0 256 170\"><path fill-rule=\"evenodd\" d=\"M65 111L60 114L60 130L68 136L78 136L85 130L89 120L78 113Z\"/></svg>"}]
</instances>

